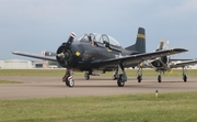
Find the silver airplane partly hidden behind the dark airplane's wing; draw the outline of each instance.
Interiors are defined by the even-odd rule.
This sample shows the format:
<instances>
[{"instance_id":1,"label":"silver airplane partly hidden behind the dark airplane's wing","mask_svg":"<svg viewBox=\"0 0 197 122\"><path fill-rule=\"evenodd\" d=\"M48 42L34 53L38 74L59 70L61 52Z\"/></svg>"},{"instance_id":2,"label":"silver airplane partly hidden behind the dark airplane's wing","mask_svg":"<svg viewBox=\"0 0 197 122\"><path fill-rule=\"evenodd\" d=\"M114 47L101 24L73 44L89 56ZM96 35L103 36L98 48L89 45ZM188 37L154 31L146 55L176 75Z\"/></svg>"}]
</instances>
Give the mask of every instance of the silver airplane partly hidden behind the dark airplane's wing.
<instances>
[{"instance_id":1,"label":"silver airplane partly hidden behind the dark airplane's wing","mask_svg":"<svg viewBox=\"0 0 197 122\"><path fill-rule=\"evenodd\" d=\"M160 45L155 52L160 52L169 48L169 42L164 45L164 40L161 40ZM186 66L197 64L197 59L171 59L170 56L161 56L153 59L148 59L139 65L138 69L138 82L142 80L142 68L154 68L158 71L158 82L162 81L161 73L172 73L172 68L183 68L183 80L187 81Z\"/></svg>"}]
</instances>

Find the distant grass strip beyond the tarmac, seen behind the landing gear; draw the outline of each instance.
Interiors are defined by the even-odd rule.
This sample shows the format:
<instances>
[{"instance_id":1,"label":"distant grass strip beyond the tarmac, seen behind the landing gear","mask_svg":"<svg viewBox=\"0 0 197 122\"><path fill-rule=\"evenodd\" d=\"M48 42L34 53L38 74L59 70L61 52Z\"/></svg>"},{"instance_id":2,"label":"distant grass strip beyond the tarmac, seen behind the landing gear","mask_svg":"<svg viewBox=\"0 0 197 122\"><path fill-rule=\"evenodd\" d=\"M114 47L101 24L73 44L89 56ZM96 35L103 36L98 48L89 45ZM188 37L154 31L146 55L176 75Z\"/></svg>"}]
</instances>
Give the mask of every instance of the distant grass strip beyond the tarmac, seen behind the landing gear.
<instances>
[{"instance_id":1,"label":"distant grass strip beyond the tarmac, seen behind the landing gear","mask_svg":"<svg viewBox=\"0 0 197 122\"><path fill-rule=\"evenodd\" d=\"M137 76L137 69L127 69L128 76ZM189 76L197 76L197 69L188 69ZM74 76L84 76L84 73L73 71ZM0 69L0 75L20 76L63 76L65 69ZM103 77L111 77L113 73L101 74ZM143 69L143 76L157 76L153 69ZM172 74L165 73L163 76L182 76L182 69L174 69Z\"/></svg>"}]
</instances>

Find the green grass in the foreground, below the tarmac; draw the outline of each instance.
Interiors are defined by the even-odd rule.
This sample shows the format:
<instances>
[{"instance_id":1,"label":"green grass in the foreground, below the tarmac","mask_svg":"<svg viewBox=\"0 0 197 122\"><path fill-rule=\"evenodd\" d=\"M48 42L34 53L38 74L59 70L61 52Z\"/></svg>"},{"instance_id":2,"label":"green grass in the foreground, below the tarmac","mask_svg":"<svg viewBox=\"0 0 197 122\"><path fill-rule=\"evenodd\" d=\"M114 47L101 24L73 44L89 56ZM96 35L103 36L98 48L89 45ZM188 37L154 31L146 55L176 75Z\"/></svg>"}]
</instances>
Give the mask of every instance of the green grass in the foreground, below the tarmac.
<instances>
[{"instance_id":1,"label":"green grass in the foreground, below the tarmac","mask_svg":"<svg viewBox=\"0 0 197 122\"><path fill-rule=\"evenodd\" d=\"M3 122L196 122L197 92L0 100Z\"/></svg>"}]
</instances>

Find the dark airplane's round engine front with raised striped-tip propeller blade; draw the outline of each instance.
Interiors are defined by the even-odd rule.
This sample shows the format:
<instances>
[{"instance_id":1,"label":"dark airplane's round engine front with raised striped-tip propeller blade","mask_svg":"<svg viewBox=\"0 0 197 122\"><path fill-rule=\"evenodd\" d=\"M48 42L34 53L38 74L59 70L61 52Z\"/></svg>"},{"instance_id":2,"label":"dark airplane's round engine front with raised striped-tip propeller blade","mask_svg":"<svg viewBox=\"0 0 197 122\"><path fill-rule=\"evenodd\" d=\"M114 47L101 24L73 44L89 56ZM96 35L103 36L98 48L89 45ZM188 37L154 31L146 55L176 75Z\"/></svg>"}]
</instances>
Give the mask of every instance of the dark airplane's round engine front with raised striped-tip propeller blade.
<instances>
[{"instance_id":1,"label":"dark airplane's round engine front with raised striped-tip propeller blade","mask_svg":"<svg viewBox=\"0 0 197 122\"><path fill-rule=\"evenodd\" d=\"M62 43L56 53L56 59L62 67L68 67L68 60L71 58L70 45L73 42L76 34L72 32L66 43Z\"/></svg>"}]
</instances>

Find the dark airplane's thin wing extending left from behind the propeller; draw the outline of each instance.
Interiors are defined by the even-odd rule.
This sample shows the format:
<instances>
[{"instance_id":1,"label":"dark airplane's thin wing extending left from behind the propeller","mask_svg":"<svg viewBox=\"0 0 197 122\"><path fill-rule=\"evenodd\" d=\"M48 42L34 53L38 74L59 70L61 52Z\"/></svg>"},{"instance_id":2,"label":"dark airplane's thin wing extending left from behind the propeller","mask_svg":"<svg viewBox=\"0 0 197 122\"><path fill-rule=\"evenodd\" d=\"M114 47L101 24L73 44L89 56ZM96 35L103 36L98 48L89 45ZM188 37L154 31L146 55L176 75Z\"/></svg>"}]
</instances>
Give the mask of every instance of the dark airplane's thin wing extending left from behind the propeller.
<instances>
[{"instance_id":1,"label":"dark airplane's thin wing extending left from behind the propeller","mask_svg":"<svg viewBox=\"0 0 197 122\"><path fill-rule=\"evenodd\" d=\"M26 57L33 57L33 58L38 58L38 59L45 59L45 60L56 60L56 56L42 56L42 55L35 55L35 54L27 54L27 53L22 53L22 52L12 52L14 55L21 55L21 56L26 56Z\"/></svg>"}]
</instances>

